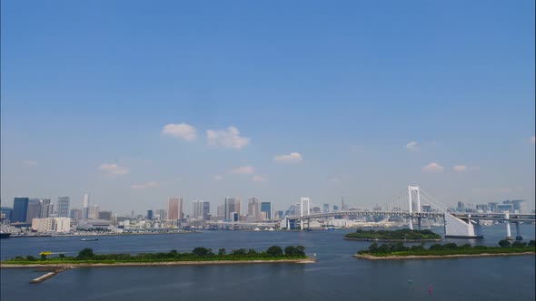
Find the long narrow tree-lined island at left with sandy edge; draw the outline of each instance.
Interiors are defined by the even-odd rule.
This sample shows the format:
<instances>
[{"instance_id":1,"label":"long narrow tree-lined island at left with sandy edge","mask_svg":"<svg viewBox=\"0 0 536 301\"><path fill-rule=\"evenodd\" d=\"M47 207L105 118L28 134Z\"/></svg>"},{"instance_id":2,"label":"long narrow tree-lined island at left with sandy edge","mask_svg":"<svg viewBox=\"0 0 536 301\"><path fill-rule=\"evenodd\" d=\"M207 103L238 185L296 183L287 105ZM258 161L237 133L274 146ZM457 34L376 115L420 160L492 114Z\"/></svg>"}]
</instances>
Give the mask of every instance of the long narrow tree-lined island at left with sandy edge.
<instances>
[{"instance_id":1,"label":"long narrow tree-lined island at left with sandy edge","mask_svg":"<svg viewBox=\"0 0 536 301\"><path fill-rule=\"evenodd\" d=\"M168 253L139 253L131 254L94 254L93 249L84 248L77 256L66 257L59 254L57 257L47 257L50 252L42 252L41 257L31 255L17 256L1 262L2 267L101 267L101 266L164 266L211 263L270 263L314 262L315 259L305 255L303 246L288 246L281 248L272 246L259 252L253 248L239 248L227 253L220 248L214 253L211 248L194 248L190 253L180 253L171 250Z\"/></svg>"}]
</instances>

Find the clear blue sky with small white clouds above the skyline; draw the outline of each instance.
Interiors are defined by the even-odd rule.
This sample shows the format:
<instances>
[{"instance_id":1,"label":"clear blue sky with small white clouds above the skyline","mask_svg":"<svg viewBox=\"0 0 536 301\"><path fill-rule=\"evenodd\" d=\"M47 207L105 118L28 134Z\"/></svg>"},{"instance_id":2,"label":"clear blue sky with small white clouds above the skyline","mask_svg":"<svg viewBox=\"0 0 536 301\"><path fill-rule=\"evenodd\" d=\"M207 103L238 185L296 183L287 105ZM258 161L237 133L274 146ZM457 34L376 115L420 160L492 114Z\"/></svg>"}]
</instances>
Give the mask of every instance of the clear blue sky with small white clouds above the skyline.
<instances>
[{"instance_id":1,"label":"clear blue sky with small white clouds above the skyline","mask_svg":"<svg viewBox=\"0 0 536 301\"><path fill-rule=\"evenodd\" d=\"M3 1L1 22L3 205L413 184L534 208L533 1Z\"/></svg>"}]
</instances>

